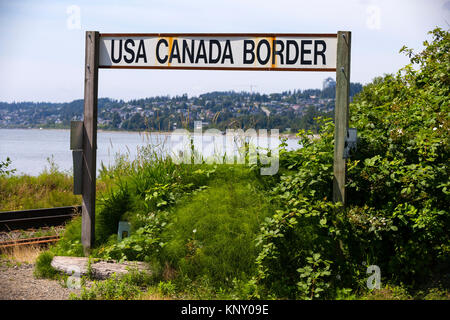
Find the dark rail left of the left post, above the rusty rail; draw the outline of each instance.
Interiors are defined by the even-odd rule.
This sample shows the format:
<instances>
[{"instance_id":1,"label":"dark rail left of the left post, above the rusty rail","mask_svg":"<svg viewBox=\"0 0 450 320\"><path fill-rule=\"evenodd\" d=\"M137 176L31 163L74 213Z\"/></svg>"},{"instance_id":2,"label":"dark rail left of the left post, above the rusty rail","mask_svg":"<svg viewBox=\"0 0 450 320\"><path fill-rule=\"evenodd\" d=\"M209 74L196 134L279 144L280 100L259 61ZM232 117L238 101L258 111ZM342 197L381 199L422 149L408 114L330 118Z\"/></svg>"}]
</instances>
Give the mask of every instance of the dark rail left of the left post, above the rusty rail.
<instances>
[{"instance_id":1,"label":"dark rail left of the left post, above the rusty rail","mask_svg":"<svg viewBox=\"0 0 450 320\"><path fill-rule=\"evenodd\" d=\"M0 212L0 231L59 226L81 213L81 206Z\"/></svg>"}]
</instances>

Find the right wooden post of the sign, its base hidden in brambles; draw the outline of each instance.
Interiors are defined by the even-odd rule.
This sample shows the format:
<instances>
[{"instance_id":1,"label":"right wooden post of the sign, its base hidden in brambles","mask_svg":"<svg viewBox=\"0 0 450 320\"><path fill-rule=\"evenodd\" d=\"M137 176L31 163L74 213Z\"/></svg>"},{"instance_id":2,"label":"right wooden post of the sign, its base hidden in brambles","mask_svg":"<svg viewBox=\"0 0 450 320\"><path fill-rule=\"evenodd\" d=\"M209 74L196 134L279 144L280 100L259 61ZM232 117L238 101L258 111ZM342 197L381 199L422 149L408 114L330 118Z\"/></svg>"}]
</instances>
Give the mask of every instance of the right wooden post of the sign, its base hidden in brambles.
<instances>
[{"instance_id":1,"label":"right wooden post of the sign, its base hidden in brambles","mask_svg":"<svg viewBox=\"0 0 450 320\"><path fill-rule=\"evenodd\" d=\"M333 201L345 204L347 168L343 155L349 117L351 32L339 31L337 36Z\"/></svg>"}]
</instances>

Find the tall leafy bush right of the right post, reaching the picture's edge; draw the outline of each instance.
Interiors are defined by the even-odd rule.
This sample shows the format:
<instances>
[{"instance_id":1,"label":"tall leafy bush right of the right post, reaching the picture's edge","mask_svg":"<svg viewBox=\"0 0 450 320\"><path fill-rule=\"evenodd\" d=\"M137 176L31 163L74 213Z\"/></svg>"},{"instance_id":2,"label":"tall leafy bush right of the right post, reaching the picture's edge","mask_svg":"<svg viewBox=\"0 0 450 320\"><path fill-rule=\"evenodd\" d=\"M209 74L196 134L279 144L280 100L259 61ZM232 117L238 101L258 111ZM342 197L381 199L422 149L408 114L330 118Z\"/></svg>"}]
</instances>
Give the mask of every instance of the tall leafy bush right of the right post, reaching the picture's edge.
<instances>
[{"instance_id":1,"label":"tall leafy bush right of the right post, reaching the picture's edge","mask_svg":"<svg viewBox=\"0 0 450 320\"><path fill-rule=\"evenodd\" d=\"M363 207L384 219L371 223L379 239L360 228L358 253L371 250L388 278L411 284L449 263L450 37L431 33L421 53L402 48L411 64L366 86L351 105L360 142L349 204L356 216Z\"/></svg>"}]
</instances>

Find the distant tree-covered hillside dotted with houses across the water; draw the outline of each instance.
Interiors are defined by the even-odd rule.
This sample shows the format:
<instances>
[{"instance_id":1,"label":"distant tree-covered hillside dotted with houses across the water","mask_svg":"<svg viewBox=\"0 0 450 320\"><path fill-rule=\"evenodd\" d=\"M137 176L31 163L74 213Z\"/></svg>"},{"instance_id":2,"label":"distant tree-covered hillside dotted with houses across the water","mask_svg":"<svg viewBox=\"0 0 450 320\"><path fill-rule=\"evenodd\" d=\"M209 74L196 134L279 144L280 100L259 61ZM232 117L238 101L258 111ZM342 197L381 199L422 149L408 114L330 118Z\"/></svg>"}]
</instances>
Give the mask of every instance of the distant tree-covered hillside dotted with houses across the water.
<instances>
[{"instance_id":1,"label":"distant tree-covered hillside dotted with houses across the water","mask_svg":"<svg viewBox=\"0 0 450 320\"><path fill-rule=\"evenodd\" d=\"M362 90L351 83L350 95ZM101 129L128 131L171 131L193 128L277 128L281 131L316 130L316 116L333 116L335 87L260 94L209 92L199 96L156 96L130 101L98 99ZM0 128L69 128L81 119L83 100L68 103L0 102Z\"/></svg>"}]
</instances>

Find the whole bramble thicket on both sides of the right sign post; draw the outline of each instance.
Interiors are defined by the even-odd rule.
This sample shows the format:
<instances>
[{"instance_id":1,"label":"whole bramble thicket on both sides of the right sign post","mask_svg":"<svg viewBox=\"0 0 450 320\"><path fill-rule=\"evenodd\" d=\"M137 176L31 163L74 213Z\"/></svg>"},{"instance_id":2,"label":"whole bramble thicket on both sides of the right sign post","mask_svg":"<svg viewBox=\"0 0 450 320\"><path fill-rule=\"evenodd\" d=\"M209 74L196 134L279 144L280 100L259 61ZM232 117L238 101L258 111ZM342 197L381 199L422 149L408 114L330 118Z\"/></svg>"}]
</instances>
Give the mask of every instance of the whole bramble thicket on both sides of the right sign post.
<instances>
[{"instance_id":1,"label":"whole bramble thicket on both sides of the right sign post","mask_svg":"<svg viewBox=\"0 0 450 320\"><path fill-rule=\"evenodd\" d=\"M449 33L395 75L377 78L350 105L358 149L347 161L347 204L331 202L333 130L300 131L303 148L280 153L278 210L258 237L254 296L333 298L363 289L365 267L414 288L449 265Z\"/></svg>"}]
</instances>

